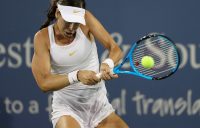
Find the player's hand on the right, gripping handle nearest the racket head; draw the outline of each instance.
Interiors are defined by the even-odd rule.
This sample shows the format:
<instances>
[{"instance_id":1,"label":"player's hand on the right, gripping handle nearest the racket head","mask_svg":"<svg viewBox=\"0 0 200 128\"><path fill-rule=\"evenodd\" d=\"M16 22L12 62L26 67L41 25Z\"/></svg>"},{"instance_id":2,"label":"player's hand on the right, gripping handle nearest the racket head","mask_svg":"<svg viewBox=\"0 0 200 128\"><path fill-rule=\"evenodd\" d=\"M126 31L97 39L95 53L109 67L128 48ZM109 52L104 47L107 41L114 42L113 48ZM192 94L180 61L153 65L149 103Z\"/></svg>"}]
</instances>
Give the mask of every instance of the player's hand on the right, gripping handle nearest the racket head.
<instances>
[{"instance_id":1,"label":"player's hand on the right, gripping handle nearest the racket head","mask_svg":"<svg viewBox=\"0 0 200 128\"><path fill-rule=\"evenodd\" d=\"M118 75L113 74L111 72L111 68L106 63L101 64L100 72L102 73L101 79L103 79L103 80L110 80L113 78L118 78Z\"/></svg>"}]
</instances>

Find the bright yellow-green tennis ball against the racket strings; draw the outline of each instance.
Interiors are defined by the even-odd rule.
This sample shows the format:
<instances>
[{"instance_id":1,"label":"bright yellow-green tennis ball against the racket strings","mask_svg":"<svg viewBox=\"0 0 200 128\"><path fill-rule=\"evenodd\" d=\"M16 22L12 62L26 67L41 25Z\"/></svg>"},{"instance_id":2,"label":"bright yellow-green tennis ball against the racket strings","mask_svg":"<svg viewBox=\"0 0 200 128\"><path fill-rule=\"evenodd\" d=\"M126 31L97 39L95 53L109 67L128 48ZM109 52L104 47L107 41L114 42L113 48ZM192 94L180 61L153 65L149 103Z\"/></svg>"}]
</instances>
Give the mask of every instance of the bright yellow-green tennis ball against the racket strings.
<instances>
[{"instance_id":1,"label":"bright yellow-green tennis ball against the racket strings","mask_svg":"<svg viewBox=\"0 0 200 128\"><path fill-rule=\"evenodd\" d=\"M155 62L151 56L144 56L142 57L141 64L144 68L152 68Z\"/></svg>"}]
</instances>

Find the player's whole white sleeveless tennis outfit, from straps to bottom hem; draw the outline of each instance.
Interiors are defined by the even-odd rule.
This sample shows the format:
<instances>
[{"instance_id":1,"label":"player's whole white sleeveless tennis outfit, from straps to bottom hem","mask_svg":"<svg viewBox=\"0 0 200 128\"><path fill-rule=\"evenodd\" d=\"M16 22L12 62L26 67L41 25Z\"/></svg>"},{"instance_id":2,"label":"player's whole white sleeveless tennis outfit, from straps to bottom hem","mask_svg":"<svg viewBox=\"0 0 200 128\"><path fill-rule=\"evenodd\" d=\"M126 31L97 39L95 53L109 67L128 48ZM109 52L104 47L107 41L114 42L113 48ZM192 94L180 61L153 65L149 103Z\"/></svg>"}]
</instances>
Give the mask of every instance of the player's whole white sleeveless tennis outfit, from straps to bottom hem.
<instances>
[{"instance_id":1,"label":"player's whole white sleeveless tennis outfit, from straps to bottom hem","mask_svg":"<svg viewBox=\"0 0 200 128\"><path fill-rule=\"evenodd\" d=\"M74 70L99 72L99 60L95 41L90 41L80 28L73 42L60 46L54 38L53 25L48 27L50 39L51 72L67 74ZM81 82L53 92L52 123L55 128L63 115L72 116L81 128L94 128L114 109L108 102L104 81L88 86Z\"/></svg>"}]
</instances>

